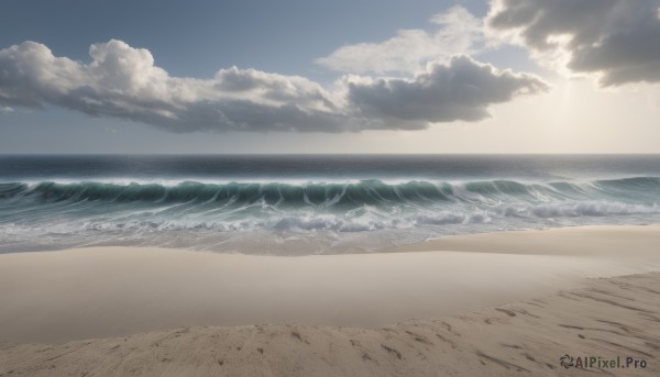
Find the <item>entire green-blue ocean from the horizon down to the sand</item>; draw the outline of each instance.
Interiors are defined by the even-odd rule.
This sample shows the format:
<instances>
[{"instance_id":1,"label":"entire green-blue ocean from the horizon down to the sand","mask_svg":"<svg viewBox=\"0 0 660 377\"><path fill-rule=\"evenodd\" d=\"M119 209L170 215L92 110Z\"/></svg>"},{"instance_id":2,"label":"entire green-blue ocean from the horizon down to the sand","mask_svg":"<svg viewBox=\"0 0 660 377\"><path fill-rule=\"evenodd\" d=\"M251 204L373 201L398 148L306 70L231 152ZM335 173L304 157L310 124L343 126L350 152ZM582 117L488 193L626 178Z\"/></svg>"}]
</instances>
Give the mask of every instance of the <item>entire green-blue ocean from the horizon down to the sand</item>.
<instances>
[{"instance_id":1,"label":"entire green-blue ocean from the horizon down to the sand","mask_svg":"<svg viewBox=\"0 0 660 377\"><path fill-rule=\"evenodd\" d=\"M0 253L148 245L334 254L650 223L660 223L658 155L0 157Z\"/></svg>"}]
</instances>

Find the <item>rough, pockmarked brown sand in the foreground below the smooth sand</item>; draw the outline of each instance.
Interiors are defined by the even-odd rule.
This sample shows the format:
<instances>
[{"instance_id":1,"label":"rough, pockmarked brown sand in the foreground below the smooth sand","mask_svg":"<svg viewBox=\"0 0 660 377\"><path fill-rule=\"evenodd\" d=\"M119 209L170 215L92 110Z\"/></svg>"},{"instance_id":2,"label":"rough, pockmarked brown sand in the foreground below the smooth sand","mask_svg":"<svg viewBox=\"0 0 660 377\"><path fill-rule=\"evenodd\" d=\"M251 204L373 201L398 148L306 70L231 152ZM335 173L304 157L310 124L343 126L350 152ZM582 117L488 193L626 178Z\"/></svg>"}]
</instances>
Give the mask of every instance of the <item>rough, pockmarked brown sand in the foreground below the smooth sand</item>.
<instances>
[{"instance_id":1,"label":"rough, pockmarked brown sand in the foreground below the smooth sand","mask_svg":"<svg viewBox=\"0 0 660 377\"><path fill-rule=\"evenodd\" d=\"M659 298L660 274L647 274L380 330L197 326L57 345L0 344L0 375L658 376ZM619 357L620 366L629 357L631 364L565 369L564 354L573 363L586 356Z\"/></svg>"}]
</instances>

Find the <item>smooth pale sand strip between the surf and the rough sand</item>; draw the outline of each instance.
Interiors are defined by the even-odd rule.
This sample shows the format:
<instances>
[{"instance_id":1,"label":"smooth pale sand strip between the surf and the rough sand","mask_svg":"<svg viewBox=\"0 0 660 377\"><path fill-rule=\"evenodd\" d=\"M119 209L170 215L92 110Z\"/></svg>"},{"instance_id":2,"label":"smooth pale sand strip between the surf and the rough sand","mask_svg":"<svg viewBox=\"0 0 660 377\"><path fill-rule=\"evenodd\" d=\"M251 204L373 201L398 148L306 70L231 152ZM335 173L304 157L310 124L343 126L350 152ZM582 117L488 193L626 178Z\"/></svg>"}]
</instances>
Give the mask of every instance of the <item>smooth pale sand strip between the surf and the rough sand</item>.
<instances>
[{"instance_id":1,"label":"smooth pale sand strip between the surf and the rough sand","mask_svg":"<svg viewBox=\"0 0 660 377\"><path fill-rule=\"evenodd\" d=\"M622 245L627 245L625 254ZM0 255L0 340L65 342L176 326L382 328L660 270L660 226L439 239L311 256L91 247Z\"/></svg>"}]
</instances>

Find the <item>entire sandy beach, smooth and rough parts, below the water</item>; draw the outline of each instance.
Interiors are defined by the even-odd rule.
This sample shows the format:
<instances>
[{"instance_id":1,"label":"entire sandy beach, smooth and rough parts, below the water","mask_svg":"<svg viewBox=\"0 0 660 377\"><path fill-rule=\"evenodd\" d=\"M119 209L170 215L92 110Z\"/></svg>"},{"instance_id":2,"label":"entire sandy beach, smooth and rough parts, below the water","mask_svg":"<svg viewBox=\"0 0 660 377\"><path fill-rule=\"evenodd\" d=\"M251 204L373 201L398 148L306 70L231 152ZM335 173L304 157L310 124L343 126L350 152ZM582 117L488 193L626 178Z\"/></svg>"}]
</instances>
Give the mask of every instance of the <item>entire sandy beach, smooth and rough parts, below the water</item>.
<instances>
[{"instance_id":1,"label":"entire sandy beach, smooth and rough parts, below the water","mask_svg":"<svg viewBox=\"0 0 660 377\"><path fill-rule=\"evenodd\" d=\"M660 226L349 255L150 247L0 255L0 375L580 375L660 350ZM602 373L608 373L603 369Z\"/></svg>"}]
</instances>

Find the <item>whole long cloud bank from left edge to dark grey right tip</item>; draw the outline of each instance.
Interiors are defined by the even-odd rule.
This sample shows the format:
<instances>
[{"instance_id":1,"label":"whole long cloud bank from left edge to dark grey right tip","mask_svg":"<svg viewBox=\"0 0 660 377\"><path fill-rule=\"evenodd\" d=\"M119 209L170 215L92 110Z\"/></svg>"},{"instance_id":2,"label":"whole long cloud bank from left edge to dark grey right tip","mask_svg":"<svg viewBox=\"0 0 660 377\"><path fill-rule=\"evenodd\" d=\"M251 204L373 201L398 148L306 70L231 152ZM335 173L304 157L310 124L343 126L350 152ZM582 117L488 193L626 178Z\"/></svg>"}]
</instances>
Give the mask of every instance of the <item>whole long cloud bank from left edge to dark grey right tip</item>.
<instances>
[{"instance_id":1,"label":"whole long cloud bank from left edge to dark grey right tip","mask_svg":"<svg viewBox=\"0 0 660 377\"><path fill-rule=\"evenodd\" d=\"M0 49L0 106L45 104L92 117L152 124L172 132L359 132L413 130L474 121L491 103L547 85L468 57L430 63L414 79L346 76L332 91L299 76L231 67L211 79L172 77L144 48L111 40L85 64L43 44Z\"/></svg>"}]
</instances>

